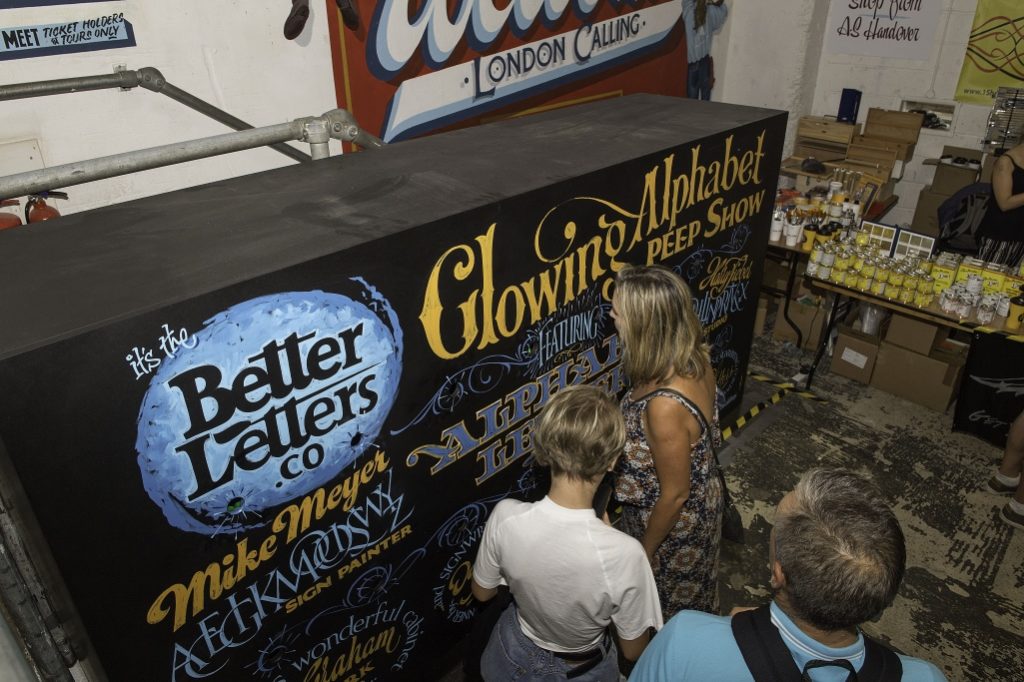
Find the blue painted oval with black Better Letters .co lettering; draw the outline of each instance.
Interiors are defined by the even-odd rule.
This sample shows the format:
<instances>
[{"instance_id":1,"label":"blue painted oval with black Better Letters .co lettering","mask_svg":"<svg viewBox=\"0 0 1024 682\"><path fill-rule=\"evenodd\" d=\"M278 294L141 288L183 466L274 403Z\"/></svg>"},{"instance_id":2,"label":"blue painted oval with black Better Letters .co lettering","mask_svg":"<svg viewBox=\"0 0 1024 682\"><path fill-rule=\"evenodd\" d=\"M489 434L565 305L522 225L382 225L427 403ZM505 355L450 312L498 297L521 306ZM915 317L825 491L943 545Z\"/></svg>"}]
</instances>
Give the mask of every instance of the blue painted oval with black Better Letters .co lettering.
<instances>
[{"instance_id":1,"label":"blue painted oval with black Better Letters .co lettering","mask_svg":"<svg viewBox=\"0 0 1024 682\"><path fill-rule=\"evenodd\" d=\"M240 303L161 364L135 447L171 525L263 525L373 443L401 376L401 329L386 299L353 282L361 300L312 291Z\"/></svg>"}]
</instances>

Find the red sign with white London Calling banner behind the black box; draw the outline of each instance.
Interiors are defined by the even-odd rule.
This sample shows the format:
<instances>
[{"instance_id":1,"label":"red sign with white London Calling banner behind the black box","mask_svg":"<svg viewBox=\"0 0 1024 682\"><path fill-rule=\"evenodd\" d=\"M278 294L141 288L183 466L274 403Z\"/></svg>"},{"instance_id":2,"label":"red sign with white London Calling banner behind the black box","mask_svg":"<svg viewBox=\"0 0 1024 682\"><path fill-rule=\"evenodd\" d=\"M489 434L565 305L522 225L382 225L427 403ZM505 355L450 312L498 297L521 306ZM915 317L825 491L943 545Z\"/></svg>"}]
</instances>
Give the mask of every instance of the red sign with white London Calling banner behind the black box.
<instances>
[{"instance_id":1,"label":"red sign with white London Calling banner behind the black box","mask_svg":"<svg viewBox=\"0 0 1024 682\"><path fill-rule=\"evenodd\" d=\"M329 3L330 4L330 3ZM338 103L387 141L556 102L685 94L679 2L384 0L332 8Z\"/></svg>"}]
</instances>

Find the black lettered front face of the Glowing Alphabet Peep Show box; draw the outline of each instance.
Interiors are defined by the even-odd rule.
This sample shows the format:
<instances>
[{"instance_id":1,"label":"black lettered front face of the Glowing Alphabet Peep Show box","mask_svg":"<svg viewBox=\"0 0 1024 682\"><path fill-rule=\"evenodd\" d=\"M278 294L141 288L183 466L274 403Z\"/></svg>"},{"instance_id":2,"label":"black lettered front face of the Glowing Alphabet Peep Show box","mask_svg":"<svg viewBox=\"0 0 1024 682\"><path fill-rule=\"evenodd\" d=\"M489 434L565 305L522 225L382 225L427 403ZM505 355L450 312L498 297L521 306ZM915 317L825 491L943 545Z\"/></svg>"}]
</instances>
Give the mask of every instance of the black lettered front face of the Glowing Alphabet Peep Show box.
<instances>
[{"instance_id":1,"label":"black lettered front face of the Glowing Alphabet Peep Show box","mask_svg":"<svg viewBox=\"0 0 1024 682\"><path fill-rule=\"evenodd\" d=\"M625 264L692 285L737 407L783 128L0 361L3 444L111 678L430 679L475 613L487 514L538 493L532 417L566 385L626 385Z\"/></svg>"}]
</instances>

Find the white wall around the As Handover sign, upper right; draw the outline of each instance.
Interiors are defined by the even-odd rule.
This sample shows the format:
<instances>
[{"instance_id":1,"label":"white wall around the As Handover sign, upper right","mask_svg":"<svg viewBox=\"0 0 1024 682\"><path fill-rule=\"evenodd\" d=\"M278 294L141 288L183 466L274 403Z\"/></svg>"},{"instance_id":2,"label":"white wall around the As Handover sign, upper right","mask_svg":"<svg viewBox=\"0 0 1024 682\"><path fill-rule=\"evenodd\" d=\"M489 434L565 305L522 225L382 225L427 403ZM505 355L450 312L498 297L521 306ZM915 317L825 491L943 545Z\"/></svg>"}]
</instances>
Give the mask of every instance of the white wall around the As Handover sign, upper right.
<instances>
[{"instance_id":1,"label":"white wall around the As Handover sign, upper right","mask_svg":"<svg viewBox=\"0 0 1024 682\"><path fill-rule=\"evenodd\" d=\"M886 222L908 223L921 188L932 181L933 166L922 161L938 157L943 145L978 148L985 134L989 106L953 101L977 0L941 2L931 57L927 60L831 54L823 49L824 0L730 1L729 35L716 50L725 52L718 97L723 101L769 106L790 112L785 152L801 116L835 116L843 88L862 94L859 120L871 106L899 110L903 99L955 103L949 131L923 129L914 158L906 164L895 194L899 204ZM719 58L716 58L718 63Z\"/></svg>"}]
</instances>

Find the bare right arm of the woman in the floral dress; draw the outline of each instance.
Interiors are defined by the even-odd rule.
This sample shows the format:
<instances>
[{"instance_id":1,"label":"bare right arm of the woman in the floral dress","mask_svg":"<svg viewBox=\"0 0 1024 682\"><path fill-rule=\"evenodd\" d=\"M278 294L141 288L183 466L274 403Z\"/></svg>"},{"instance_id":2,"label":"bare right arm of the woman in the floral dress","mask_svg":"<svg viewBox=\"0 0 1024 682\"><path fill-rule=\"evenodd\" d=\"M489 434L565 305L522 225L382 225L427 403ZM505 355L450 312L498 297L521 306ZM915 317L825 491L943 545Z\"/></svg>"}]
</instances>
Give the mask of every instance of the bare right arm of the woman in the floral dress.
<instances>
[{"instance_id":1,"label":"bare right arm of the woman in the floral dress","mask_svg":"<svg viewBox=\"0 0 1024 682\"><path fill-rule=\"evenodd\" d=\"M647 403L646 422L659 494L640 542L647 558L653 559L690 497L690 443L697 439L699 427L683 406L667 397Z\"/></svg>"}]
</instances>

